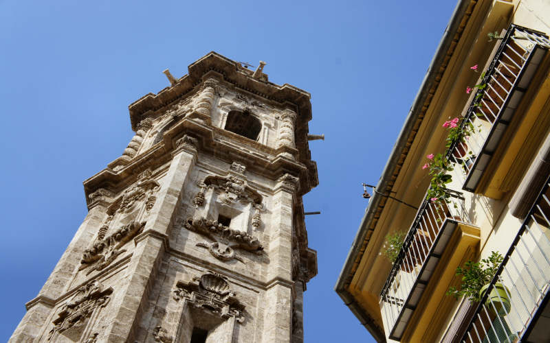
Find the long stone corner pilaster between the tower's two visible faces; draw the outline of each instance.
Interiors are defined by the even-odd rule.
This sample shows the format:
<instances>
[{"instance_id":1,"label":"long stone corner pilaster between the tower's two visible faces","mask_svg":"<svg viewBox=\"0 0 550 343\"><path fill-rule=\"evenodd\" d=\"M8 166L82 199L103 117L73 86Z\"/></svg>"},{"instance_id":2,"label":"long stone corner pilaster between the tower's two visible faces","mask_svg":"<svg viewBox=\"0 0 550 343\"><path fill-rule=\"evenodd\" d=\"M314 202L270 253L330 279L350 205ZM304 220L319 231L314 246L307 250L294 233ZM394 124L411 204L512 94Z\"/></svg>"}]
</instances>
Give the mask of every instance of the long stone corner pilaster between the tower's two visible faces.
<instances>
[{"instance_id":1,"label":"long stone corner pilaster between the tower's two visible faces","mask_svg":"<svg viewBox=\"0 0 550 343\"><path fill-rule=\"evenodd\" d=\"M166 183L162 185L157 202L151 209L151 215L144 232L138 236L136 248L126 270L129 279L113 301L117 313L107 328L102 342L134 342L135 331L141 312L148 301L148 292L152 288L155 276L162 261L168 241L168 228L172 220L179 196L188 179L192 167L197 161L197 140L184 136L176 142L172 163L168 169Z\"/></svg>"}]
</instances>

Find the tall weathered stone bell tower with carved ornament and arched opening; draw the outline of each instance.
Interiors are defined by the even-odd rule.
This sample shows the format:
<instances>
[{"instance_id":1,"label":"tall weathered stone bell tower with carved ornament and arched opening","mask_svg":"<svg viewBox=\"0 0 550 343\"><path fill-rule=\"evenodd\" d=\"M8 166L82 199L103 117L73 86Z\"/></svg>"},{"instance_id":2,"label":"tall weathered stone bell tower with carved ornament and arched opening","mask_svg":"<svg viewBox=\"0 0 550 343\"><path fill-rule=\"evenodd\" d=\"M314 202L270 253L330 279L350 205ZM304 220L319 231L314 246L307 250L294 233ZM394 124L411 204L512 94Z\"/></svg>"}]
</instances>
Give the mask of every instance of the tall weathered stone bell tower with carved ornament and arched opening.
<instances>
[{"instance_id":1,"label":"tall weathered stone bell tower with carved ornament and arched opening","mask_svg":"<svg viewBox=\"0 0 550 343\"><path fill-rule=\"evenodd\" d=\"M211 52L129 106L88 215L10 342L303 342L309 93Z\"/></svg>"}]
</instances>

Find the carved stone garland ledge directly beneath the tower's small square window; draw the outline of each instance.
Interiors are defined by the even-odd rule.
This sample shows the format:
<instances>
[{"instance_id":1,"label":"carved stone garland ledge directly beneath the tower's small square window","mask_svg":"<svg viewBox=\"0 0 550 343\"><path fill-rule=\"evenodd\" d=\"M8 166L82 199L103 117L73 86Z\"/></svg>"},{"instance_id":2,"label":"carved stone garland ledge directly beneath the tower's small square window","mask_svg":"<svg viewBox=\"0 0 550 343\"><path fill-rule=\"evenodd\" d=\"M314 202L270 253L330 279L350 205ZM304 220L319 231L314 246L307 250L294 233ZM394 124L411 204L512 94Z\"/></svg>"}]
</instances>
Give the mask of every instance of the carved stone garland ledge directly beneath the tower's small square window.
<instances>
[{"instance_id":1,"label":"carved stone garland ledge directly beneath the tower's small square window","mask_svg":"<svg viewBox=\"0 0 550 343\"><path fill-rule=\"evenodd\" d=\"M261 254L263 251L263 246L256 237L243 231L233 230L228 226L223 226L216 220L206 220L204 218L193 220L189 218L184 223L184 227L190 231L206 236L212 241L218 241L214 238L215 236L218 237L220 241L232 242L233 244L228 244L230 248L239 248L258 254Z\"/></svg>"}]
</instances>

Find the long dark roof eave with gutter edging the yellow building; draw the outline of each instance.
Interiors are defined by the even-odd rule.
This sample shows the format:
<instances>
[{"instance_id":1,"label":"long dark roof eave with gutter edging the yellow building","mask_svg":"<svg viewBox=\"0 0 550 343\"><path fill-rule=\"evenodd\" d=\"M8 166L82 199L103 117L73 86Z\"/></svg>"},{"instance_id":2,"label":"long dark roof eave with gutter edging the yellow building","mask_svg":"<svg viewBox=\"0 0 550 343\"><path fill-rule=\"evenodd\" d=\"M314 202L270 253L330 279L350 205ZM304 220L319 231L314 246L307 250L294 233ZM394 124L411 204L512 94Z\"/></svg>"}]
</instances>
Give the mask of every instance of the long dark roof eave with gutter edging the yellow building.
<instances>
[{"instance_id":1,"label":"long dark roof eave with gutter edging the yellow building","mask_svg":"<svg viewBox=\"0 0 550 343\"><path fill-rule=\"evenodd\" d=\"M399 176L410 145L412 145L412 141L415 140L418 129L426 114L426 110L430 106L432 97L437 91L439 82L448 66L448 62L454 54L456 43L460 40L463 29L465 25L467 25L476 3L478 3L478 0L459 0L454 8L454 12L445 28L445 32L437 47L434 58L430 63L430 67L428 67L428 71L426 71L420 89L405 119L404 126L401 128L401 132L399 132L399 137L393 147L388 163L386 163L386 167L384 167L382 177L378 182L377 189L382 191L382 193L389 193L393 188L397 176ZM384 329L380 327L372 316L370 316L360 303L358 303L358 299L349 291L349 286L355 272L358 270L363 254L369 245L377 220L380 218L386 201L387 198L380 196L378 193L374 193L335 286L335 290L340 298L344 300L344 303L351 309L353 314L360 320L366 329L369 330L377 342L385 342Z\"/></svg>"}]
</instances>

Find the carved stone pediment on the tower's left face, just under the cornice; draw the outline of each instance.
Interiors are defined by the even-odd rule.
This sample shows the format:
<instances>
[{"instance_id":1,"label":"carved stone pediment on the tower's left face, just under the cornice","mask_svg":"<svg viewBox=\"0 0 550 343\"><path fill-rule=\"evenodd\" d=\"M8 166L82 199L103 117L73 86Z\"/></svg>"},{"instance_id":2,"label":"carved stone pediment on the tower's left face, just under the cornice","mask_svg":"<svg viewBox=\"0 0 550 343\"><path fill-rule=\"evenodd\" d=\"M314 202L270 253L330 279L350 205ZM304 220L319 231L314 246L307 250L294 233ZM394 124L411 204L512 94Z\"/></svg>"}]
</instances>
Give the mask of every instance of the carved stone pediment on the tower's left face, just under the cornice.
<instances>
[{"instance_id":1,"label":"carved stone pediment on the tower's left face, just under the cornice","mask_svg":"<svg viewBox=\"0 0 550 343\"><path fill-rule=\"evenodd\" d=\"M122 196L118 197L107 209L107 213L113 214L115 211L122 213L130 212L135 204L141 200L146 200L146 209L150 210L155 203L156 197L152 196L160 189L160 184L152 178L151 170L146 169L137 178L138 182L126 189Z\"/></svg>"}]
</instances>

